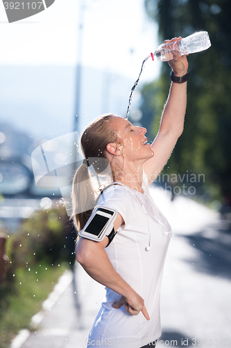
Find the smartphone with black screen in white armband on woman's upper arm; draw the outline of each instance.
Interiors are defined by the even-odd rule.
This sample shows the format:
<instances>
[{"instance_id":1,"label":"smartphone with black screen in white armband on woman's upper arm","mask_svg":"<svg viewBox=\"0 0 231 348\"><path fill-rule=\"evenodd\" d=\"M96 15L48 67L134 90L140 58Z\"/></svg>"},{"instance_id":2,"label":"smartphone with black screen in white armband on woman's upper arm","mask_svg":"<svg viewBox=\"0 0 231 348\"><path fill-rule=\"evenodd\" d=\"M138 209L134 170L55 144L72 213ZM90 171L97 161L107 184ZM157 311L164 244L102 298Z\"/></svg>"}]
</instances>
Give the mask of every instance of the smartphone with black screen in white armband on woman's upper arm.
<instances>
[{"instance_id":1,"label":"smartphone with black screen in white armband on woman's upper arm","mask_svg":"<svg viewBox=\"0 0 231 348\"><path fill-rule=\"evenodd\" d=\"M97 205L83 230L78 232L78 235L96 242L101 242L106 235L110 235L110 232L112 232L116 217L117 210Z\"/></svg>"}]
</instances>

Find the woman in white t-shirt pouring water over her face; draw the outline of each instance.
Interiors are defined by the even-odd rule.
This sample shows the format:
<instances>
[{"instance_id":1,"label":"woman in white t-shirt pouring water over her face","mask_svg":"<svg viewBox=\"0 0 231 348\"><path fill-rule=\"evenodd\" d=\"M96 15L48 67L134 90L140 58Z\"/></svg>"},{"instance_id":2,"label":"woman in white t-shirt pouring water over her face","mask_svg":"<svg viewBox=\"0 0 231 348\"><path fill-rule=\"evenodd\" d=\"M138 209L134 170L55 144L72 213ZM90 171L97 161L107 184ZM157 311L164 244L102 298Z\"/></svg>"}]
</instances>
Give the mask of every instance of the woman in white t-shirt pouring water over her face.
<instances>
[{"instance_id":1,"label":"woman in white t-shirt pouring water over her face","mask_svg":"<svg viewBox=\"0 0 231 348\"><path fill-rule=\"evenodd\" d=\"M176 40L180 38L165 43ZM76 192L78 183L89 179L89 157L108 159L114 185L103 191L97 204L118 212L117 235L110 245L107 236L101 242L80 237L76 247L77 261L106 289L87 347L150 347L161 335L160 286L171 227L148 193L148 184L160 174L182 134L187 84L177 80L189 76L186 56L175 53L168 63L173 82L152 144L146 143L145 128L112 114L95 120L81 138L86 161L74 177L76 228L81 230L92 214L92 209L75 214L79 194L93 199L89 180L88 193Z\"/></svg>"}]
</instances>

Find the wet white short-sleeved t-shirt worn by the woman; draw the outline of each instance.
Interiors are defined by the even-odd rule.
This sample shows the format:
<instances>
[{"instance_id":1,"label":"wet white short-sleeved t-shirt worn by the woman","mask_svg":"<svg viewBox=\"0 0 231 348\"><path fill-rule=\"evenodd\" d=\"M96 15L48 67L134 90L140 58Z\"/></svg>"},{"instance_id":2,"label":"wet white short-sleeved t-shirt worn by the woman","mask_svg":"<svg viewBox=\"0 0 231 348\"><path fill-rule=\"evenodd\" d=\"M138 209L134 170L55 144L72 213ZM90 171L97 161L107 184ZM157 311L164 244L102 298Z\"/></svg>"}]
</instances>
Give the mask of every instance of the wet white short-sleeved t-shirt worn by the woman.
<instances>
[{"instance_id":1,"label":"wet white short-sleeved t-shirt worn by the woman","mask_svg":"<svg viewBox=\"0 0 231 348\"><path fill-rule=\"evenodd\" d=\"M113 308L121 295L105 287L105 299L89 333L87 347L140 348L161 335L160 287L171 226L155 205L143 176L144 193L126 185L106 189L99 205L115 208L125 224L105 248L114 269L144 299L150 320ZM151 249L146 247L151 240Z\"/></svg>"}]
</instances>

